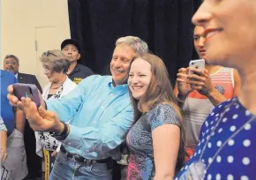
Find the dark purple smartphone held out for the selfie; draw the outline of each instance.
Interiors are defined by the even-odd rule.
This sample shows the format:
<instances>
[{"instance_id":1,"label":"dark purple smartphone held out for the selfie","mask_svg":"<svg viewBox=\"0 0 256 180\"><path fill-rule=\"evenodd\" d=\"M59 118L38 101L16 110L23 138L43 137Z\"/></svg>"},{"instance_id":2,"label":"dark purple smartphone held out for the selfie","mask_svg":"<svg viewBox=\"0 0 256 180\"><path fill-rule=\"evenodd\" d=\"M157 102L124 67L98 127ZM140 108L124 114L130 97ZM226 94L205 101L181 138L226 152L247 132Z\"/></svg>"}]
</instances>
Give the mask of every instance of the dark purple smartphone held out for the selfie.
<instances>
[{"instance_id":1,"label":"dark purple smartphone held out for the selfie","mask_svg":"<svg viewBox=\"0 0 256 180\"><path fill-rule=\"evenodd\" d=\"M19 99L19 101L21 100L21 97L28 97L34 101L37 108L41 105L38 89L35 85L16 83L13 85L13 94Z\"/></svg>"}]
</instances>

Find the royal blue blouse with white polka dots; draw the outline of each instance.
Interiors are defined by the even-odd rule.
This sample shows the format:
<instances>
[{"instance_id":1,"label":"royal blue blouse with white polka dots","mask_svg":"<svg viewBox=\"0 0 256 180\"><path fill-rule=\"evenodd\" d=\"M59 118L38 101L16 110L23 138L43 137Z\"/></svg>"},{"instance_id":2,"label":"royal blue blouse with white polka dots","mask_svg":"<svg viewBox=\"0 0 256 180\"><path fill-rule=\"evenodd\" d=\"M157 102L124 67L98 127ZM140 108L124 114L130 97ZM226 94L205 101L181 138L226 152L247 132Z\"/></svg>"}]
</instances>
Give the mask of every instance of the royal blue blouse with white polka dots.
<instances>
[{"instance_id":1,"label":"royal blue blouse with white polka dots","mask_svg":"<svg viewBox=\"0 0 256 180\"><path fill-rule=\"evenodd\" d=\"M256 116L233 98L207 117L192 158L175 180L255 179Z\"/></svg>"}]
</instances>

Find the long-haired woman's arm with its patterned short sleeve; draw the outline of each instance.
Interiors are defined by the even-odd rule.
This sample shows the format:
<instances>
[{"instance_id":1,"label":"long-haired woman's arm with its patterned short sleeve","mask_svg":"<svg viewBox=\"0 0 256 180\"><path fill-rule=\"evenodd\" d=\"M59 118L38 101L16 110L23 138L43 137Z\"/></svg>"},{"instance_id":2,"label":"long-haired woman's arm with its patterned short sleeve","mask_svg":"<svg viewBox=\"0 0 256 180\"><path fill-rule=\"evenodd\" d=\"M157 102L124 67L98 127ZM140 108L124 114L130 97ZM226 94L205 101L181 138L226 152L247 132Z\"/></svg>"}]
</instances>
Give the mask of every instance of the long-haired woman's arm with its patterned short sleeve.
<instances>
[{"instance_id":1,"label":"long-haired woman's arm with its patterned short sleeve","mask_svg":"<svg viewBox=\"0 0 256 180\"><path fill-rule=\"evenodd\" d=\"M176 109L161 104L148 117L153 139L154 180L172 179L176 172L182 127Z\"/></svg>"}]
</instances>

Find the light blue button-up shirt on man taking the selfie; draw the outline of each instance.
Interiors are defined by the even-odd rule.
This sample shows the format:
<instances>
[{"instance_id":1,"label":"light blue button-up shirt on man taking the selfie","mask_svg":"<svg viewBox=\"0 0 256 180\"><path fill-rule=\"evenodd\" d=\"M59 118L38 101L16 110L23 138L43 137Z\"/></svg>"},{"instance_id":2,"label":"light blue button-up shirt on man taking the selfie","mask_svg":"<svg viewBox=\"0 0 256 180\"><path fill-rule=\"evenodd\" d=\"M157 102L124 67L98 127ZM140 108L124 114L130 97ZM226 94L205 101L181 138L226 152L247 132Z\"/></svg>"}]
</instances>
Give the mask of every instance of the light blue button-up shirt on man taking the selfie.
<instances>
[{"instance_id":1,"label":"light blue button-up shirt on man taking the selfie","mask_svg":"<svg viewBox=\"0 0 256 180\"><path fill-rule=\"evenodd\" d=\"M65 149L87 159L117 159L121 145L133 123L128 86L112 85L111 76L94 75L82 80L59 100L47 101L59 119L70 124Z\"/></svg>"}]
</instances>

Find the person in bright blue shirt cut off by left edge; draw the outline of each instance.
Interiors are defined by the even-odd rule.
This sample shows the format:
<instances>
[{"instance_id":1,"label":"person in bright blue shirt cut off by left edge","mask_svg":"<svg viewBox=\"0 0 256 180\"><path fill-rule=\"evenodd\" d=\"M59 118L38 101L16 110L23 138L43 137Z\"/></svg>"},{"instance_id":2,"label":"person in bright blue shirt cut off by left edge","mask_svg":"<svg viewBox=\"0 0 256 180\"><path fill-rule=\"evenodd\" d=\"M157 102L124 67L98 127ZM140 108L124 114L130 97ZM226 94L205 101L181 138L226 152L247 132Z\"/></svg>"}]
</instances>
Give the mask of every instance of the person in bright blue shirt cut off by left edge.
<instances>
[{"instance_id":1,"label":"person in bright blue shirt cut off by left edge","mask_svg":"<svg viewBox=\"0 0 256 180\"><path fill-rule=\"evenodd\" d=\"M24 113L20 109L12 109L7 99L7 87L18 81L9 71L1 70L0 82L0 179L20 180L27 174L26 150L20 129L20 124L24 124Z\"/></svg>"}]
</instances>

